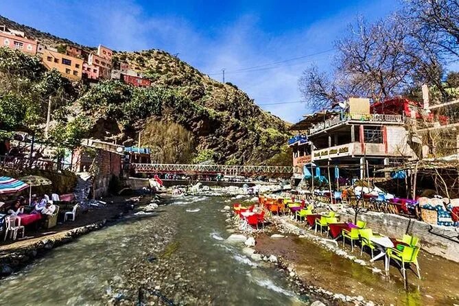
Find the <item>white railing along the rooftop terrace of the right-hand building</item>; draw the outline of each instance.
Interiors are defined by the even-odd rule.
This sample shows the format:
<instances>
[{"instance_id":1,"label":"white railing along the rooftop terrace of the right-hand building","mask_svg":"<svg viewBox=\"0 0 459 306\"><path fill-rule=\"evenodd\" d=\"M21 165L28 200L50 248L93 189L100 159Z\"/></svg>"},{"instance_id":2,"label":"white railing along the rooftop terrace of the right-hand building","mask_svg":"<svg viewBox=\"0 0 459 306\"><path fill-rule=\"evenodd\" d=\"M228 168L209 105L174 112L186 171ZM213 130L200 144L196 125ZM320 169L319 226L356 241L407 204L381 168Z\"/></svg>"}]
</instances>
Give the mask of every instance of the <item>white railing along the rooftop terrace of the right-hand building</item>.
<instances>
[{"instance_id":1,"label":"white railing along the rooftop terrace of the right-hand building","mask_svg":"<svg viewBox=\"0 0 459 306\"><path fill-rule=\"evenodd\" d=\"M402 123L403 116L402 115L383 115L383 114L356 114L356 113L336 115L335 117L331 117L325 122L314 124L309 129L309 134L314 134L315 132L318 132L320 130L325 130L326 128L329 128L331 126L337 126L339 124L345 123L346 121L350 121L350 120Z\"/></svg>"}]
</instances>

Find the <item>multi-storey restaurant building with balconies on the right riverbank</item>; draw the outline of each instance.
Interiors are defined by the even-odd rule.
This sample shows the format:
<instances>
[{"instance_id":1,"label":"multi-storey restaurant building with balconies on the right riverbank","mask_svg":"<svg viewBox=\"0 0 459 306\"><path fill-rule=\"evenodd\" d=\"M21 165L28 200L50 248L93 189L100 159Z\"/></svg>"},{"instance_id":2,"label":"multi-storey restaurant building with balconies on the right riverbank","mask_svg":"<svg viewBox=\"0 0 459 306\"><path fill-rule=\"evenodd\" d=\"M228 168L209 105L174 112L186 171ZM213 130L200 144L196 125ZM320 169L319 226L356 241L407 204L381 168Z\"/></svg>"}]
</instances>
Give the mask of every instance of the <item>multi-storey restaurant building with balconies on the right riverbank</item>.
<instances>
[{"instance_id":1,"label":"multi-storey restaurant building with balconies on the right riverbank","mask_svg":"<svg viewBox=\"0 0 459 306\"><path fill-rule=\"evenodd\" d=\"M405 113L370 110L368 99L351 98L340 112L307 115L292 126L291 130L303 132L298 141L289 142L295 172L320 172L327 177L327 168L333 167L339 169L330 171L333 181L338 179L336 174L344 178L384 176L377 172L384 165L416 158L409 145Z\"/></svg>"}]
</instances>

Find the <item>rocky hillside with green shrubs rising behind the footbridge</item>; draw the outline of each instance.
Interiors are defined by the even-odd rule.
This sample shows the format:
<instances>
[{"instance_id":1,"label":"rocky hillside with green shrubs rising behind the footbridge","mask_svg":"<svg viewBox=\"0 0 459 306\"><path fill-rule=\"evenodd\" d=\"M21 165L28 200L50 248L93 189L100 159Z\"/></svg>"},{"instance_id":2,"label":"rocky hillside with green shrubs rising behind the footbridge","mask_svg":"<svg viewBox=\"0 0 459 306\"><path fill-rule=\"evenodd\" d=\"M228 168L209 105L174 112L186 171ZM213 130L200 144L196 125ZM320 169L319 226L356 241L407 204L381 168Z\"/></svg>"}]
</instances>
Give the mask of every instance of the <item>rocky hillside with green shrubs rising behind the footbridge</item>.
<instances>
[{"instance_id":1,"label":"rocky hillside with green shrubs rising behind the footbridge","mask_svg":"<svg viewBox=\"0 0 459 306\"><path fill-rule=\"evenodd\" d=\"M45 44L69 40L0 19ZM91 49L87 47L87 49ZM291 163L285 122L261 110L233 84L222 84L161 50L116 51L113 64L128 62L152 80L137 89L109 80L96 86L74 84L78 97L67 112L91 119L89 136L148 145L159 162Z\"/></svg>"}]
</instances>

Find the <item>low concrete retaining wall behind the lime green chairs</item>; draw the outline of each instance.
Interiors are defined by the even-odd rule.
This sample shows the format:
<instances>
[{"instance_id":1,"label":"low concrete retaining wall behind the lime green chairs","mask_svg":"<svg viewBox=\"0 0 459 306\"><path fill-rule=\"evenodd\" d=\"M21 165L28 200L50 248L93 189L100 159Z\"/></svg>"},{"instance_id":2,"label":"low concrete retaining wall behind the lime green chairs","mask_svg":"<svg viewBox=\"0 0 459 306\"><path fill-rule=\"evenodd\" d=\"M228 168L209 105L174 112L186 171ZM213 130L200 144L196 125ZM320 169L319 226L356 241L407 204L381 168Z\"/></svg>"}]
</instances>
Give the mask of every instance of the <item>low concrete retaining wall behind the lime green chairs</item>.
<instances>
[{"instance_id":1,"label":"low concrete retaining wall behind the lime green chairs","mask_svg":"<svg viewBox=\"0 0 459 306\"><path fill-rule=\"evenodd\" d=\"M351 220L354 215L340 211L341 220ZM419 237L421 250L446 259L459 262L459 230L454 227L436 226L418 220L411 220L399 215L375 213L373 211L360 213L359 220L367 222L367 227L374 232L389 237L402 237L410 226L408 233ZM422 268L422 267L421 267Z\"/></svg>"}]
</instances>

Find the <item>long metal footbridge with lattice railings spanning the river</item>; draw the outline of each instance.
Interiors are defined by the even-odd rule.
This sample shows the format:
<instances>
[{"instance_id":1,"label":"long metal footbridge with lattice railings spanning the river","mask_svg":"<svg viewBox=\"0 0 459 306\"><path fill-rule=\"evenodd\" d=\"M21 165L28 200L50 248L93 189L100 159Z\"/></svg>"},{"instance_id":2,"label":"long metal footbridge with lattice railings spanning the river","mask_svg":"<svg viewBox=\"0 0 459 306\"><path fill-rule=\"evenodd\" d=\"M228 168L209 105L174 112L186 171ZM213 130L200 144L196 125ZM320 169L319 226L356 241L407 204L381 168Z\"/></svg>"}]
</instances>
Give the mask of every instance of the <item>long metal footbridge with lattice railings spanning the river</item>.
<instances>
[{"instance_id":1,"label":"long metal footbridge with lattice railings spanning the river","mask_svg":"<svg viewBox=\"0 0 459 306\"><path fill-rule=\"evenodd\" d=\"M133 163L136 173L174 173L174 174L227 174L227 175L274 175L293 174L289 166L251 166L251 165L180 165L158 163Z\"/></svg>"}]
</instances>

